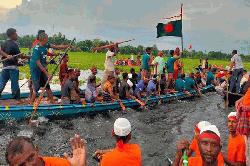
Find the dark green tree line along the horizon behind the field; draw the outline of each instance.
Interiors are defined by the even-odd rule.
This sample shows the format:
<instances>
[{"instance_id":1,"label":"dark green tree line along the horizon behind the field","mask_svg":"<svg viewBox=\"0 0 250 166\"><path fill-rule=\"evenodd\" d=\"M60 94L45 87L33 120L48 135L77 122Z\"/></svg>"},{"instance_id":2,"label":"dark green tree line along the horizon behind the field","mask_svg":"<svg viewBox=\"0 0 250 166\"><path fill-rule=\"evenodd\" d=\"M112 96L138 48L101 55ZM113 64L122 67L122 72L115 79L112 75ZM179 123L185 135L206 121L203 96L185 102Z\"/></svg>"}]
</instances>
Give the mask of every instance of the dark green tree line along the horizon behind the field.
<instances>
[{"instance_id":1,"label":"dark green tree line along the horizon behind the field","mask_svg":"<svg viewBox=\"0 0 250 166\"><path fill-rule=\"evenodd\" d=\"M5 33L0 33L0 41L3 42L7 39L7 36ZM22 48L29 48L31 47L33 41L36 39L36 36L34 35L25 35L25 36L19 36L18 37L18 43L19 46ZM65 37L62 33L54 34L53 36L49 37L49 41L53 44L69 44L70 40ZM93 39L93 40L83 40L78 41L74 43L75 48L73 51L83 51L83 52L91 52L92 48L103 46L112 43L112 41L103 41L101 39ZM157 55L157 52L159 49L156 45L153 45L153 54ZM125 46L119 46L119 53L120 54L142 54L145 50L145 47L142 45L138 46L131 46L131 45L125 45ZM106 50L102 50L102 52L105 52ZM170 50L162 50L164 54L168 55ZM229 60L232 56L230 54L223 53L221 51L209 51L209 52L203 52L203 51L189 51L184 50L183 51L183 57L188 58L194 58L194 59L221 59L221 60ZM241 57L245 61L250 61L250 55L243 55L241 54Z\"/></svg>"}]
</instances>

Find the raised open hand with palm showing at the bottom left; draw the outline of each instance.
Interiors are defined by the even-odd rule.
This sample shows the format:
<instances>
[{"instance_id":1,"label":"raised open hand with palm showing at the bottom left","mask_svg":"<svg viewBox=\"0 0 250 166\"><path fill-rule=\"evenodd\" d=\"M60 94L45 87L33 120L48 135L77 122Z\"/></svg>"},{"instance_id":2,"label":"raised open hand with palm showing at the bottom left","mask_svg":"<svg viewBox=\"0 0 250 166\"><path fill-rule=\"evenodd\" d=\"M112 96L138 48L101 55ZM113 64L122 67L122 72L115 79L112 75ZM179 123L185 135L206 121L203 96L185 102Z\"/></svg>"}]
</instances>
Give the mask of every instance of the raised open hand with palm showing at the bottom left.
<instances>
[{"instance_id":1,"label":"raised open hand with palm showing at the bottom left","mask_svg":"<svg viewBox=\"0 0 250 166\"><path fill-rule=\"evenodd\" d=\"M70 157L67 153L64 157L69 161L71 166L86 166L86 141L81 139L79 135L75 135L70 139L70 145L73 156Z\"/></svg>"}]
</instances>

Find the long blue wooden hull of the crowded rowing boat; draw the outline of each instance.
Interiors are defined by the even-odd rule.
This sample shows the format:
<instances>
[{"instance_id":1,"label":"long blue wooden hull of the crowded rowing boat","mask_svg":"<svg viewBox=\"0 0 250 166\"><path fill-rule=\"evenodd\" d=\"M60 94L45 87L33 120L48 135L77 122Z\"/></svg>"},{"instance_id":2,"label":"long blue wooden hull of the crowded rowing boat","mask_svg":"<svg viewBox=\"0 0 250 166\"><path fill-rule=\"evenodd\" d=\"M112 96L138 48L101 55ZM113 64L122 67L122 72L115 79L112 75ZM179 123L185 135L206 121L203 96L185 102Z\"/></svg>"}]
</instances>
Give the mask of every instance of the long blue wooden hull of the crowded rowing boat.
<instances>
[{"instance_id":1,"label":"long blue wooden hull of the crowded rowing boat","mask_svg":"<svg viewBox=\"0 0 250 166\"><path fill-rule=\"evenodd\" d=\"M206 93L213 91L213 86L206 86L201 91ZM192 92L195 94L196 92ZM171 100L187 98L188 96L184 93L167 94L161 96L150 97L147 104L158 103L159 100L162 102L167 102ZM139 104L134 100L124 100L122 101L126 107L138 107ZM91 112L104 112L108 110L119 110L120 105L118 102L113 103L94 103L86 105L40 105L37 110L37 116L39 117L72 117L78 116L79 114L91 113ZM0 106L0 121L9 120L24 120L30 117L33 112L33 106L23 105L23 106Z\"/></svg>"}]
</instances>

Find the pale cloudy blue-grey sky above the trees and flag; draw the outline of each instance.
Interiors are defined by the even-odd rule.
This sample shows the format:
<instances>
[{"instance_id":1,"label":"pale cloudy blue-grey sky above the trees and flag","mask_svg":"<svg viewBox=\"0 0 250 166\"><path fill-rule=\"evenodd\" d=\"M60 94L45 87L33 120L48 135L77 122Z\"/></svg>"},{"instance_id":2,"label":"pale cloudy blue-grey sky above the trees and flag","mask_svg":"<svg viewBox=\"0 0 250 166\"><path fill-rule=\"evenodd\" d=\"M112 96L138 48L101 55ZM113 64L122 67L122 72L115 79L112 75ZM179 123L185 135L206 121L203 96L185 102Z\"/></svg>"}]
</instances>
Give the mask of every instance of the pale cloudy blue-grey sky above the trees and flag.
<instances>
[{"instance_id":1,"label":"pale cloudy blue-grey sky above the trees and flag","mask_svg":"<svg viewBox=\"0 0 250 166\"><path fill-rule=\"evenodd\" d=\"M180 38L156 38L156 25L179 14L181 3L184 48L249 53L250 0L0 0L0 32L45 29L77 40L135 38L130 44L173 49L180 47Z\"/></svg>"}]
</instances>

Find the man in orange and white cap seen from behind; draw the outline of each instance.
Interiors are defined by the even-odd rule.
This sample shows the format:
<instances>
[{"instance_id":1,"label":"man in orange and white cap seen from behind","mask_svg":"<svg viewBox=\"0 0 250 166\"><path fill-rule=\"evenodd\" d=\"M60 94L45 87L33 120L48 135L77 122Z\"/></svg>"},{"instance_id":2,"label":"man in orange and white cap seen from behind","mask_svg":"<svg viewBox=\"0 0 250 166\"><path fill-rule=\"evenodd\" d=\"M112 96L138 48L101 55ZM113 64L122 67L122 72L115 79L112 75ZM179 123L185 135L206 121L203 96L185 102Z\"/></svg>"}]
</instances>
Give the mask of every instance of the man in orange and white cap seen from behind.
<instances>
[{"instance_id":1,"label":"man in orange and white cap seen from behind","mask_svg":"<svg viewBox=\"0 0 250 166\"><path fill-rule=\"evenodd\" d=\"M125 118L118 118L112 132L116 138L116 147L112 150L97 150L100 166L141 166L141 150L137 144L129 144L131 139L131 124Z\"/></svg>"}]
</instances>

